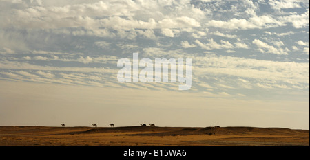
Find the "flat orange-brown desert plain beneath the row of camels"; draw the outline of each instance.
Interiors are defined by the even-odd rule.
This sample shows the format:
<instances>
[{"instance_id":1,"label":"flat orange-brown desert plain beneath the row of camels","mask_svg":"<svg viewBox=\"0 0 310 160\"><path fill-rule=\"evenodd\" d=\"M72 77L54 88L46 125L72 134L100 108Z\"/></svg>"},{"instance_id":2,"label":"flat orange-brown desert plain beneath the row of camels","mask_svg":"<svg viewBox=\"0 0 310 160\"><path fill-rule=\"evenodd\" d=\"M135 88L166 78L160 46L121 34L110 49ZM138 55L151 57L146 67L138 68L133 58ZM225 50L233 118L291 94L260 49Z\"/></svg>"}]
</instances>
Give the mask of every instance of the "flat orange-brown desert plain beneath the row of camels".
<instances>
[{"instance_id":1,"label":"flat orange-brown desert plain beneath the row of camels","mask_svg":"<svg viewBox=\"0 0 310 160\"><path fill-rule=\"evenodd\" d=\"M0 146L309 146L309 130L236 126L0 126Z\"/></svg>"}]
</instances>

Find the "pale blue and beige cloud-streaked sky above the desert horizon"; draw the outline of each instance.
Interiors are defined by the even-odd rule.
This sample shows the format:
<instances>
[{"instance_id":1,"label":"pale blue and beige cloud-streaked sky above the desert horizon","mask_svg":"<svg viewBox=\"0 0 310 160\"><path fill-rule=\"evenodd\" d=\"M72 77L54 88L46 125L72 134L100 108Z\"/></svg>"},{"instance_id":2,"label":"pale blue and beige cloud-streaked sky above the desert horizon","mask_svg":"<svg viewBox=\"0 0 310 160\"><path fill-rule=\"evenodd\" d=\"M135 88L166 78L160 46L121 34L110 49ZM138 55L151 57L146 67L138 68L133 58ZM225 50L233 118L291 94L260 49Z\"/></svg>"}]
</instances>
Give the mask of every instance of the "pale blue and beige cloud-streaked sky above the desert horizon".
<instances>
[{"instance_id":1,"label":"pale blue and beige cloud-streaked sky above the desert horizon","mask_svg":"<svg viewBox=\"0 0 310 160\"><path fill-rule=\"evenodd\" d=\"M307 0L0 0L0 21L0 126L309 130ZM118 82L133 53L190 58L192 86Z\"/></svg>"}]
</instances>

